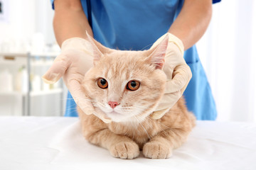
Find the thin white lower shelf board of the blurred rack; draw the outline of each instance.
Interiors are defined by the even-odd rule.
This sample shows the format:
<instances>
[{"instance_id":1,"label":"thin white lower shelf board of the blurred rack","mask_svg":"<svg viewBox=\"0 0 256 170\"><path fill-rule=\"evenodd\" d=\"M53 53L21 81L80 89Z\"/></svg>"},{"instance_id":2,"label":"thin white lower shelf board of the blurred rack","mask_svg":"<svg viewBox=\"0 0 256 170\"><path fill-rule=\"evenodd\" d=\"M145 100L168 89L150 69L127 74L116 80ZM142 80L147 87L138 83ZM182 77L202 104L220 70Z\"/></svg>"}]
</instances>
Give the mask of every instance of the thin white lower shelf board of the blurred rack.
<instances>
[{"instance_id":1,"label":"thin white lower shelf board of the blurred rack","mask_svg":"<svg viewBox=\"0 0 256 170\"><path fill-rule=\"evenodd\" d=\"M43 96L43 95L49 95L49 94L60 94L63 92L63 89L51 89L47 91L31 91L30 95L31 96ZM28 93L22 93L19 91L10 91L10 92L5 92L5 91L0 91L0 96L26 96Z\"/></svg>"}]
</instances>

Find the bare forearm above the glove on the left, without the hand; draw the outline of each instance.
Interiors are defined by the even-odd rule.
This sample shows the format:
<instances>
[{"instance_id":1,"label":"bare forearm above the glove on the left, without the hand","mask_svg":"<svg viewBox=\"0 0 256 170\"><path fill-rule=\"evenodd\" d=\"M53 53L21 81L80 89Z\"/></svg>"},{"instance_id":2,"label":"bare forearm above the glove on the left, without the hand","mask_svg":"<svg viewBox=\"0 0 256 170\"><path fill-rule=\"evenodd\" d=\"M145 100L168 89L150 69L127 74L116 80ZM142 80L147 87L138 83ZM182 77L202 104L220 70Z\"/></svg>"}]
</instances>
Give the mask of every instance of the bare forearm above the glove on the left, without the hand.
<instances>
[{"instance_id":1,"label":"bare forearm above the glove on the left, without the hand","mask_svg":"<svg viewBox=\"0 0 256 170\"><path fill-rule=\"evenodd\" d=\"M60 47L68 38L86 38L85 30L92 36L80 0L55 0L54 7L53 28Z\"/></svg>"}]
</instances>

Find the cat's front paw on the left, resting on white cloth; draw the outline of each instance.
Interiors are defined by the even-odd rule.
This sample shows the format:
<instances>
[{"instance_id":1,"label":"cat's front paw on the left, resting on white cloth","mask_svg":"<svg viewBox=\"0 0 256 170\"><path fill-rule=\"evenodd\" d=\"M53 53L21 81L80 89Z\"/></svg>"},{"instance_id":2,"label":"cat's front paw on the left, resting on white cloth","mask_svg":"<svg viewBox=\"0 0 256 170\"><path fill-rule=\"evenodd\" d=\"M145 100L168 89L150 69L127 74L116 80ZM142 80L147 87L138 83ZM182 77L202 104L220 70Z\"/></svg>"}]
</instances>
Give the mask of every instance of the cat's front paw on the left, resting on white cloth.
<instances>
[{"instance_id":1,"label":"cat's front paw on the left, resting on white cloth","mask_svg":"<svg viewBox=\"0 0 256 170\"><path fill-rule=\"evenodd\" d=\"M139 147L135 142L119 142L110 148L113 157L134 159L139 156Z\"/></svg>"}]
</instances>

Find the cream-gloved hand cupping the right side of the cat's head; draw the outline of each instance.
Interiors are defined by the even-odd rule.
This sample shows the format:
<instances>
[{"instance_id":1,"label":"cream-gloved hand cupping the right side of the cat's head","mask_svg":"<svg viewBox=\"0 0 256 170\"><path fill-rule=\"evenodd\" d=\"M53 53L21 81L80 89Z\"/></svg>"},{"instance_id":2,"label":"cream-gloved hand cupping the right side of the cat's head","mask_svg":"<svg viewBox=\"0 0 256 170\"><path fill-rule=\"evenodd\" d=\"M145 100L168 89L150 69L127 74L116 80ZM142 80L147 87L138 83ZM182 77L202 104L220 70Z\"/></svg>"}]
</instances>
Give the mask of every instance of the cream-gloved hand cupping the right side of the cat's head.
<instances>
[{"instance_id":1,"label":"cream-gloved hand cupping the right side of the cat's head","mask_svg":"<svg viewBox=\"0 0 256 170\"><path fill-rule=\"evenodd\" d=\"M166 33L156 40L151 48L159 45L166 35L169 36L169 44L164 58L164 72L167 77L166 89L159 106L157 106L156 111L151 114L151 118L153 119L161 118L172 106L174 106L178 99L181 98L192 77L191 69L183 58L183 43L175 35Z\"/></svg>"}]
</instances>

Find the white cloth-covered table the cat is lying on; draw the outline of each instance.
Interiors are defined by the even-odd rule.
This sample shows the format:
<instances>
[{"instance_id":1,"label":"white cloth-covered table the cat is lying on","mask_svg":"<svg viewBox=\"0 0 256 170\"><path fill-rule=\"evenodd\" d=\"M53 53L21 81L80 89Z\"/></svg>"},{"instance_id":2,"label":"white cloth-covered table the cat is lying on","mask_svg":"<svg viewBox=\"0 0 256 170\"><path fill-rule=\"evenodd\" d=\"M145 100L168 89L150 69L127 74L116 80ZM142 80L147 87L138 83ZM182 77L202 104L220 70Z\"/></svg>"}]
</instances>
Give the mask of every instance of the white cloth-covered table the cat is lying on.
<instances>
[{"instance_id":1,"label":"white cloth-covered table the cat is lying on","mask_svg":"<svg viewBox=\"0 0 256 170\"><path fill-rule=\"evenodd\" d=\"M123 160L90 145L78 118L0 117L0 169L256 169L256 124L198 121L170 159Z\"/></svg>"}]
</instances>

